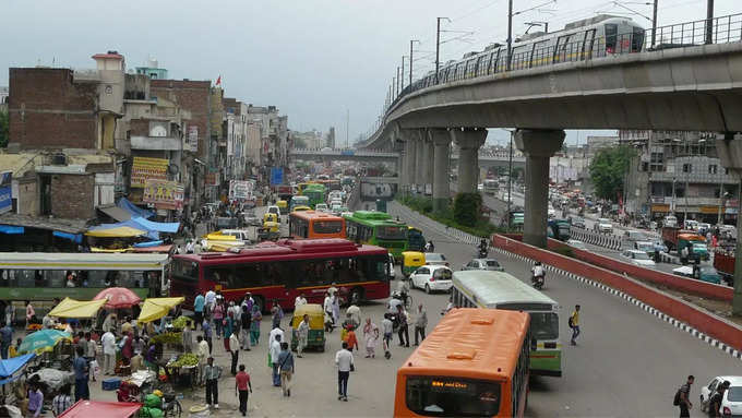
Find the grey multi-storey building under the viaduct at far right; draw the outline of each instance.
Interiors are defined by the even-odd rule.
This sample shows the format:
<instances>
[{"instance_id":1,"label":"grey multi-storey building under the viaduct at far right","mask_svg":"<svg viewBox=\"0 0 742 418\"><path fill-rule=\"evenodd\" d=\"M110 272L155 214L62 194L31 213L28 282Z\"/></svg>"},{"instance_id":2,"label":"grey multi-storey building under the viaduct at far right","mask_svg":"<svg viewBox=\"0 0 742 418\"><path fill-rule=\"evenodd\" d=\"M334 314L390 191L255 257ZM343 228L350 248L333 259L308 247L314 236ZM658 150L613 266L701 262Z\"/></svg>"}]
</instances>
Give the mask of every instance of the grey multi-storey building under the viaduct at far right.
<instances>
[{"instance_id":1,"label":"grey multi-storey building under the viaduct at far right","mask_svg":"<svg viewBox=\"0 0 742 418\"><path fill-rule=\"evenodd\" d=\"M623 130L619 136L637 151L626 172L626 212L735 222L739 182L721 166L715 134Z\"/></svg>"}]
</instances>

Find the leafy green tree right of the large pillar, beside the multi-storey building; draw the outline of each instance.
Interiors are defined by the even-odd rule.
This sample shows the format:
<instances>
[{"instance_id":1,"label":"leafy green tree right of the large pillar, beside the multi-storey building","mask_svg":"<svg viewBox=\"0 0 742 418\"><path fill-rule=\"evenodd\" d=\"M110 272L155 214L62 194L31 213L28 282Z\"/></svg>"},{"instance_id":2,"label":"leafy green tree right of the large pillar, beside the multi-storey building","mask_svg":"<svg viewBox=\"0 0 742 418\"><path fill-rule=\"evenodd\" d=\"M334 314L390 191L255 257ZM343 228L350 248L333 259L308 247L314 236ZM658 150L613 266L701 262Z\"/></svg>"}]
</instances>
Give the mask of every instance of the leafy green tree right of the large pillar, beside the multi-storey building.
<instances>
[{"instance_id":1,"label":"leafy green tree right of the large pillar, beside the multi-storey building","mask_svg":"<svg viewBox=\"0 0 742 418\"><path fill-rule=\"evenodd\" d=\"M598 198L615 201L636 151L627 145L600 150L590 163L590 180Z\"/></svg>"}]
</instances>

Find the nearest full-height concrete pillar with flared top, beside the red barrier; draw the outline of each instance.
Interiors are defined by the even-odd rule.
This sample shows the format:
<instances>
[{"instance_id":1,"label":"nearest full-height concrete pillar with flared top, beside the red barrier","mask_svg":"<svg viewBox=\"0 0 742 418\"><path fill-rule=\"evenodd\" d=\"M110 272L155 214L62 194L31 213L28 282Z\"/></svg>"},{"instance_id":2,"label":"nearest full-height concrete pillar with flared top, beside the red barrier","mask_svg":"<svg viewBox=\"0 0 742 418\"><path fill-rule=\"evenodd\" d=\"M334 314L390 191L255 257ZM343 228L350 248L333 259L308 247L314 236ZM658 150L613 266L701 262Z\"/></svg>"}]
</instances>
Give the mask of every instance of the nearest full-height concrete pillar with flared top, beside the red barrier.
<instances>
[{"instance_id":1,"label":"nearest full-height concrete pillar with flared top, beside the red barrier","mask_svg":"<svg viewBox=\"0 0 742 418\"><path fill-rule=\"evenodd\" d=\"M515 146L526 155L526 213L523 242L547 248L549 158L562 148L564 131L518 129Z\"/></svg>"}]
</instances>

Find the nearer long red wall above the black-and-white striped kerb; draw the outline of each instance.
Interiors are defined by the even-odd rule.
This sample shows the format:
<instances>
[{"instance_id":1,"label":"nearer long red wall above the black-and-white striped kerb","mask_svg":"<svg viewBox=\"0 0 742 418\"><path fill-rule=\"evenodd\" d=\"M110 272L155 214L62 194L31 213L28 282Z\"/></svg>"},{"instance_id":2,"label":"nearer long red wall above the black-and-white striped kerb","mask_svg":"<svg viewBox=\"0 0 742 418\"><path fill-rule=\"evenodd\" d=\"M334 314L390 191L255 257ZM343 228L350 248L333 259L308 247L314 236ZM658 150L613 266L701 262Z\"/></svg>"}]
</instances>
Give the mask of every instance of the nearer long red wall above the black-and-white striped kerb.
<instances>
[{"instance_id":1,"label":"nearer long red wall above the black-and-white striped kerb","mask_svg":"<svg viewBox=\"0 0 742 418\"><path fill-rule=\"evenodd\" d=\"M611 272L588 262L567 258L552 251L528 246L520 242L517 238L518 237L514 235L511 235L510 237L494 235L492 236L492 244L503 251L515 253L527 259L538 260L546 265L560 268L576 276L599 282L613 289L620 290L678 321L689 324L699 332L723 342L730 347L735 348L738 351L742 350L742 329L735 324L728 322L722 318L715 317L680 298L666 295L638 280L625 277L622 274ZM559 243L553 242L550 243L550 246L554 247L558 244ZM575 251L575 253L577 251ZM680 277L678 277L678 279L682 280ZM704 285L707 284L697 280L691 280L689 283L689 286L704 287Z\"/></svg>"}]
</instances>

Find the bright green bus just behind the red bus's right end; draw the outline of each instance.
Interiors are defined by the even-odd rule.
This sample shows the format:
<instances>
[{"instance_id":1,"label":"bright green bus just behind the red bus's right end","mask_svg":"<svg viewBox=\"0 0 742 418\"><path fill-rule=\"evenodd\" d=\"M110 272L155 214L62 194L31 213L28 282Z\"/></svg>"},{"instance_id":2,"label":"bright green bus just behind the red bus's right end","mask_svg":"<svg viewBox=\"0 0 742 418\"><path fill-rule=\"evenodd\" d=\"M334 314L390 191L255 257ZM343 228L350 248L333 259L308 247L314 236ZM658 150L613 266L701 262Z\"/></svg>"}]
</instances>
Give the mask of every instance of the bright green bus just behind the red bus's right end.
<instances>
[{"instance_id":1,"label":"bright green bus just behind the red bus's right end","mask_svg":"<svg viewBox=\"0 0 742 418\"><path fill-rule=\"evenodd\" d=\"M394 260L407 251L407 225L384 212L356 211L345 215L348 239L387 249Z\"/></svg>"}]
</instances>

